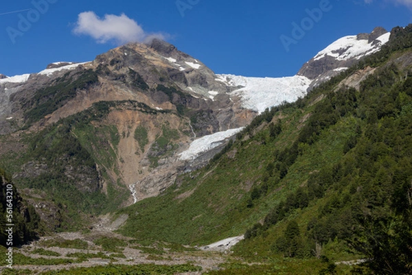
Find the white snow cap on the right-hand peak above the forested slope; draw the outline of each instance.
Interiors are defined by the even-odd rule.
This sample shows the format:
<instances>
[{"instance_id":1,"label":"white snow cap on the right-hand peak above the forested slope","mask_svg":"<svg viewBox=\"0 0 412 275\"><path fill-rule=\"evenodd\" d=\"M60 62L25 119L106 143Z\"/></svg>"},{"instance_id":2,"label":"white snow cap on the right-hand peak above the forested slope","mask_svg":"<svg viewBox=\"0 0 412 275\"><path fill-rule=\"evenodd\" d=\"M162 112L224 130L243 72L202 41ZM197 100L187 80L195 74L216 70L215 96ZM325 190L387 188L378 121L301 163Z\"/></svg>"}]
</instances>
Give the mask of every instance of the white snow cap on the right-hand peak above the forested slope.
<instances>
[{"instance_id":1,"label":"white snow cap on the right-hand peak above the forested slope","mask_svg":"<svg viewBox=\"0 0 412 275\"><path fill-rule=\"evenodd\" d=\"M389 36L391 36L390 32L378 37L377 40L380 41L380 45L379 43L368 43L367 40L363 39L358 40L357 36L345 36L336 40L322 51L319 51L314 57L314 60L320 60L325 56L332 56L336 58L336 60L348 60L350 58L361 59L363 56L368 56L371 53L379 51L380 47L389 41Z\"/></svg>"}]
</instances>

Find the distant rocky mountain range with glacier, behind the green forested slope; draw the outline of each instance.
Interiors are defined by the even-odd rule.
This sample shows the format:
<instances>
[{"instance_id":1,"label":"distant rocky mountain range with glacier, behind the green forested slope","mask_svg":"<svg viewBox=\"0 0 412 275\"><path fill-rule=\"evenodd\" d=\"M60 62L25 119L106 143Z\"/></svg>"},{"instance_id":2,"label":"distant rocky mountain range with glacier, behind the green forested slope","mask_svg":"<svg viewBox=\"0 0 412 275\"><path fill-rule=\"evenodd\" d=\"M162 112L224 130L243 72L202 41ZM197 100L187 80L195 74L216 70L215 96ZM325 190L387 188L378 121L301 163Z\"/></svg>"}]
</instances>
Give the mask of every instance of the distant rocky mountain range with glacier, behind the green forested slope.
<instances>
[{"instance_id":1,"label":"distant rocky mountain range with glacier, behind the green forested slope","mask_svg":"<svg viewBox=\"0 0 412 275\"><path fill-rule=\"evenodd\" d=\"M382 32L357 36L370 47L356 46L345 62L378 50ZM338 40L323 58L336 45L349 52L353 40ZM29 202L45 206L38 213L51 230L76 228L78 208L108 213L159 195L179 174L203 167L266 108L304 97L313 83L308 76L216 75L156 39L91 62L54 62L0 80L0 165Z\"/></svg>"}]
</instances>

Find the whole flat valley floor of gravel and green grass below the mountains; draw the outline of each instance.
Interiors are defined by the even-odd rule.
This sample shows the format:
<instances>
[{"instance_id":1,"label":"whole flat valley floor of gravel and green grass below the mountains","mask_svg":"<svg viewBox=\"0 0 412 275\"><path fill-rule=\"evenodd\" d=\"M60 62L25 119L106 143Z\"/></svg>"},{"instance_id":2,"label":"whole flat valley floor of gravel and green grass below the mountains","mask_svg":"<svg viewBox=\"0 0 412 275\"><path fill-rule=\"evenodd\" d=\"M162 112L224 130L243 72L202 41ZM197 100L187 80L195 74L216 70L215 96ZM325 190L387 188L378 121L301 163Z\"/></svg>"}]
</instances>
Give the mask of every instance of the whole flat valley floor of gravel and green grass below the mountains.
<instances>
[{"instance_id":1,"label":"whole flat valley floor of gravel and green grass below the mountains","mask_svg":"<svg viewBox=\"0 0 412 275\"><path fill-rule=\"evenodd\" d=\"M81 268L87 268L87 274L102 274L106 268L120 270L124 267L133 272L139 268L154 268L156 271L150 274L319 274L328 264L317 259L273 259L251 263L229 252L230 248L242 239L242 236L233 237L201 248L158 242L138 244L134 239L118 235L102 226L89 232L62 232L41 237L38 241L16 248L13 270L0 267L0 272L19 275L83 274L84 270ZM336 263L336 274L348 274L350 265L357 263ZM161 268L168 267L172 271L163 273ZM179 269L183 272L179 272ZM115 274L129 273L119 271Z\"/></svg>"}]
</instances>

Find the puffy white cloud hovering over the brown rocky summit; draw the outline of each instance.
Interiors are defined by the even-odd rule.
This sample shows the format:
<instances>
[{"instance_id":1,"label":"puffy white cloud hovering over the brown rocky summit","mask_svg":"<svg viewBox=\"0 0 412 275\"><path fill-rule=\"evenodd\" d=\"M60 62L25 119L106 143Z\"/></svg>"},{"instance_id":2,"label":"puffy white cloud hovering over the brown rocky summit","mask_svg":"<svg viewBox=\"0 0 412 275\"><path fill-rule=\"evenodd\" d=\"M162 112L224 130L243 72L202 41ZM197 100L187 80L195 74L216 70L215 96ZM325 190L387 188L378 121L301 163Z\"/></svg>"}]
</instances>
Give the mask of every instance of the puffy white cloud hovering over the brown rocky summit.
<instances>
[{"instance_id":1,"label":"puffy white cloud hovering over the brown rocky summit","mask_svg":"<svg viewBox=\"0 0 412 275\"><path fill-rule=\"evenodd\" d=\"M124 44L148 42L154 38L165 39L163 34L146 33L136 21L130 19L126 14L120 16L106 14L104 19L100 19L94 12L82 12L78 15L73 33L91 36L98 43L114 40L115 43Z\"/></svg>"}]
</instances>

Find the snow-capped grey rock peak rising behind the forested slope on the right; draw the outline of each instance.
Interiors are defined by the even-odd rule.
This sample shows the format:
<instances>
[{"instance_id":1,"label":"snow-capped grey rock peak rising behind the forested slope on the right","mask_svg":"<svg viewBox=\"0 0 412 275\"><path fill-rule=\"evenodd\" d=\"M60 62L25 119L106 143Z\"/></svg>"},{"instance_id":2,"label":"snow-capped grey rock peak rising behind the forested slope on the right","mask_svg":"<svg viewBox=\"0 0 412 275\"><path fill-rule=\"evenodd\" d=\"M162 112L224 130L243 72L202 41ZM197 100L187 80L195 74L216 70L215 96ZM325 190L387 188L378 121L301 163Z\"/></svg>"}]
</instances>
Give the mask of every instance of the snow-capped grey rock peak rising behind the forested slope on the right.
<instances>
[{"instance_id":1,"label":"snow-capped grey rock peak rising behind the forested slope on the right","mask_svg":"<svg viewBox=\"0 0 412 275\"><path fill-rule=\"evenodd\" d=\"M310 89L351 67L364 56L374 53L389 40L390 33L376 27L370 34L345 36L320 51L297 73L313 80Z\"/></svg>"}]
</instances>

